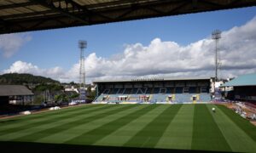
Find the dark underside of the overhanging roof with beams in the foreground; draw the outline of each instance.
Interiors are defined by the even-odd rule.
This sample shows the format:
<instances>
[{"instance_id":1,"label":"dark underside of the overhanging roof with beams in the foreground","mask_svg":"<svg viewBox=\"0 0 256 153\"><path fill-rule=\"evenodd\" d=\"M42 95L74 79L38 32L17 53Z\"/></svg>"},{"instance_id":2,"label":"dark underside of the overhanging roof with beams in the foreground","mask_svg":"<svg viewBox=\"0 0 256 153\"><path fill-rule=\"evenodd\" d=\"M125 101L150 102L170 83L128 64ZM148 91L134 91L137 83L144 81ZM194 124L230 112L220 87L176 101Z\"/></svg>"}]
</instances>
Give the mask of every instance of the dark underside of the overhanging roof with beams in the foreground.
<instances>
[{"instance_id":1,"label":"dark underside of the overhanging roof with beams in the foreground","mask_svg":"<svg viewBox=\"0 0 256 153\"><path fill-rule=\"evenodd\" d=\"M6 0L0 34L255 6L256 0Z\"/></svg>"}]
</instances>

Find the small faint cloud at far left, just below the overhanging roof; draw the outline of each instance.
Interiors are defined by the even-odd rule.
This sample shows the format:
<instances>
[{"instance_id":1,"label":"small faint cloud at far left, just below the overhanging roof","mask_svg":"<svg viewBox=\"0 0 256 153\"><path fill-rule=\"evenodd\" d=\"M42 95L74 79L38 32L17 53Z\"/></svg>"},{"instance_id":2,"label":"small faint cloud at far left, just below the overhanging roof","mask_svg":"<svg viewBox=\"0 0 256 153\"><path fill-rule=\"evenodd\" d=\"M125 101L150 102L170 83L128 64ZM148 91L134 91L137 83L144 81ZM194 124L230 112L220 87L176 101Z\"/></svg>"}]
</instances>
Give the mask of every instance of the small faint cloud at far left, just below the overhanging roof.
<instances>
[{"instance_id":1,"label":"small faint cloud at far left, just below the overhanging roof","mask_svg":"<svg viewBox=\"0 0 256 153\"><path fill-rule=\"evenodd\" d=\"M11 57L20 47L29 42L32 37L28 34L4 34L0 35L0 53L5 58Z\"/></svg>"}]
</instances>

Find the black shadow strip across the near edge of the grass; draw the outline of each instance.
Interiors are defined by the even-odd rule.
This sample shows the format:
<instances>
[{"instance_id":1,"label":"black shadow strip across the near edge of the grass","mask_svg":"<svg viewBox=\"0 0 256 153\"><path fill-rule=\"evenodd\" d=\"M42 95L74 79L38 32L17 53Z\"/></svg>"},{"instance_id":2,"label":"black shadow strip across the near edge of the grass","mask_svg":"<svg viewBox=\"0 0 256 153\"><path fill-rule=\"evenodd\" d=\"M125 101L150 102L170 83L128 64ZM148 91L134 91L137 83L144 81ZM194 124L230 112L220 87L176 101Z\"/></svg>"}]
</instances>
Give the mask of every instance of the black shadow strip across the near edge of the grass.
<instances>
[{"instance_id":1,"label":"black shadow strip across the near edge of the grass","mask_svg":"<svg viewBox=\"0 0 256 153\"><path fill-rule=\"evenodd\" d=\"M166 152L212 152L202 150L166 150L166 149L150 149L150 148L131 148L131 147L114 147L114 146L96 146L96 145L76 145L76 144L44 144L31 142L10 142L0 141L0 149L5 152L32 152L32 153L48 153L48 152L151 152L151 153L166 153Z\"/></svg>"}]
</instances>

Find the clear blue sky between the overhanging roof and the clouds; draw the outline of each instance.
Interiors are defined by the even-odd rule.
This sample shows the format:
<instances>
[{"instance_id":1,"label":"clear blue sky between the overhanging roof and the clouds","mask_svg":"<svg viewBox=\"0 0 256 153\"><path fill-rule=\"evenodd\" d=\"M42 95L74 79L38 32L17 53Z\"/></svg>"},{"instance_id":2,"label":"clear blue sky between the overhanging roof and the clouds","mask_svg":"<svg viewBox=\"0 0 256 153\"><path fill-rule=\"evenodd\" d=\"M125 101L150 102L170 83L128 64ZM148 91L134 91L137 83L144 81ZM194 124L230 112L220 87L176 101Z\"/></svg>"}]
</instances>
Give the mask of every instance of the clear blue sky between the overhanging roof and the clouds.
<instances>
[{"instance_id":1,"label":"clear blue sky between the overhanging roof and the clouds","mask_svg":"<svg viewBox=\"0 0 256 153\"><path fill-rule=\"evenodd\" d=\"M106 59L114 54L123 54L128 44L140 43L148 46L155 38L160 38L162 42L177 42L180 46L187 46L210 37L215 29L229 31L234 26L245 25L255 14L255 7L236 8L96 26L26 32L25 35L29 36L30 40L22 43L15 54L8 58L4 57L1 54L3 48L0 48L0 71L9 69L18 60L37 65L40 69L59 66L64 71L68 71L78 63L79 40L88 42L85 56L96 53L97 57Z\"/></svg>"}]
</instances>

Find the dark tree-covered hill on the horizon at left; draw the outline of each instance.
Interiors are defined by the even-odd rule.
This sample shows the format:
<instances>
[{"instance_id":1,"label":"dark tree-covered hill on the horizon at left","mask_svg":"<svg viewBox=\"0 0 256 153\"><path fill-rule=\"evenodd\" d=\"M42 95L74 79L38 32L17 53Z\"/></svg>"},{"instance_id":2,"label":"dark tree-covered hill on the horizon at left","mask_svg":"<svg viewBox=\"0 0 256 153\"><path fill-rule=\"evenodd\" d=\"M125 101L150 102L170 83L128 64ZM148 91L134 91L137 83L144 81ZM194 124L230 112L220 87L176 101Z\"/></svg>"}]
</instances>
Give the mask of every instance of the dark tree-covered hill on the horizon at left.
<instances>
[{"instance_id":1,"label":"dark tree-covered hill on the horizon at left","mask_svg":"<svg viewBox=\"0 0 256 153\"><path fill-rule=\"evenodd\" d=\"M49 77L33 76L26 73L6 73L0 75L0 84L24 84L24 83L60 83Z\"/></svg>"}]
</instances>

